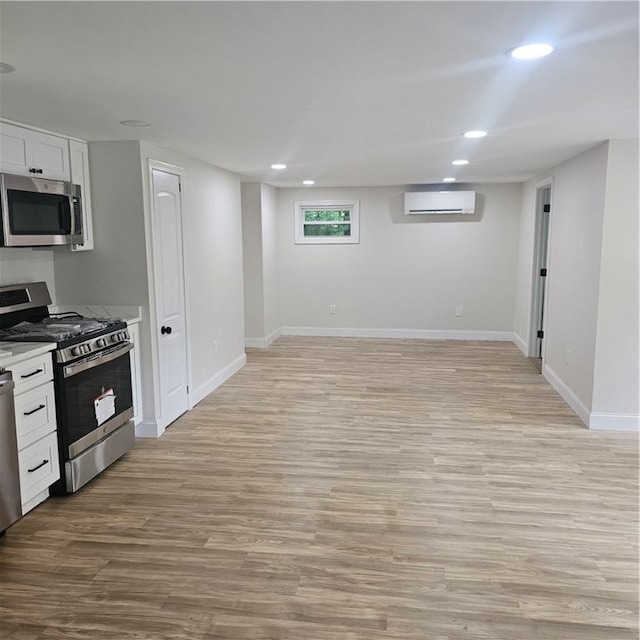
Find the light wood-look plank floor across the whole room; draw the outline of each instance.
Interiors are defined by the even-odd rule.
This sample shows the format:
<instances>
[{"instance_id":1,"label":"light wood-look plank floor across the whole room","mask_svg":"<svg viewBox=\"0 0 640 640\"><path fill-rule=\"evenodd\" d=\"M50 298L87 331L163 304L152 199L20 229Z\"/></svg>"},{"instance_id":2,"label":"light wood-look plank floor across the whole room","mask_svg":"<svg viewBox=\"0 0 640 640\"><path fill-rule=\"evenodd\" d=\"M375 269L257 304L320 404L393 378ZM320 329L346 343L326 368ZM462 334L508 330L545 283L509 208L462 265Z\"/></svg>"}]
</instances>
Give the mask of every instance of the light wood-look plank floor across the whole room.
<instances>
[{"instance_id":1,"label":"light wood-look plank floor across the whole room","mask_svg":"<svg viewBox=\"0 0 640 640\"><path fill-rule=\"evenodd\" d=\"M0 540L6 640L638 638L638 439L509 343L281 338Z\"/></svg>"}]
</instances>

